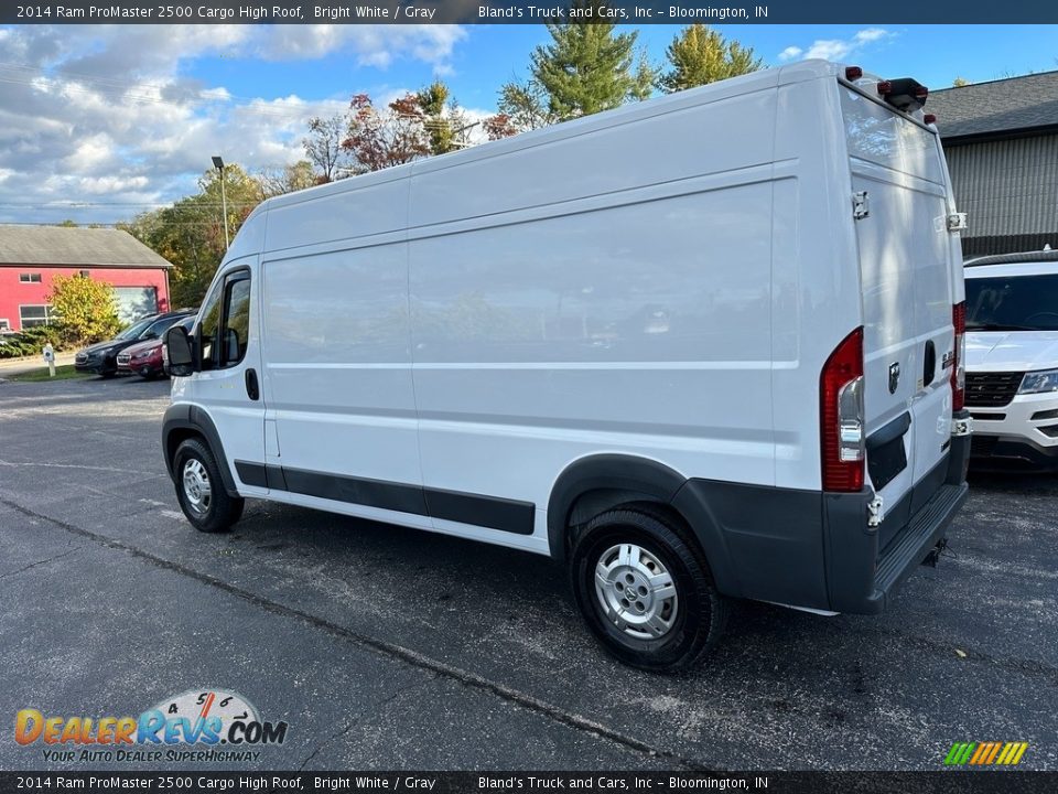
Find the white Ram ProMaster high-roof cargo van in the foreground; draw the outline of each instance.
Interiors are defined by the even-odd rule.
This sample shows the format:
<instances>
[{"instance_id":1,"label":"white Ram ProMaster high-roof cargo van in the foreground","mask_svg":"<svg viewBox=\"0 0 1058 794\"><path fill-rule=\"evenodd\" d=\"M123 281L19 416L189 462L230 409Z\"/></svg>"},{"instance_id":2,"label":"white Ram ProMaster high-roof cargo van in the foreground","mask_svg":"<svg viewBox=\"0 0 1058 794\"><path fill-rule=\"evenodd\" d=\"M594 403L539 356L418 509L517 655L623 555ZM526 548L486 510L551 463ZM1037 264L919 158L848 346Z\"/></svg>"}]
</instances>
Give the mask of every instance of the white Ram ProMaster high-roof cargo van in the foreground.
<instances>
[{"instance_id":1,"label":"white Ram ProMaster high-roof cargo van in the foreground","mask_svg":"<svg viewBox=\"0 0 1058 794\"><path fill-rule=\"evenodd\" d=\"M168 339L187 518L550 555L652 669L732 598L882 611L967 494L925 95L809 61L263 203Z\"/></svg>"}]
</instances>

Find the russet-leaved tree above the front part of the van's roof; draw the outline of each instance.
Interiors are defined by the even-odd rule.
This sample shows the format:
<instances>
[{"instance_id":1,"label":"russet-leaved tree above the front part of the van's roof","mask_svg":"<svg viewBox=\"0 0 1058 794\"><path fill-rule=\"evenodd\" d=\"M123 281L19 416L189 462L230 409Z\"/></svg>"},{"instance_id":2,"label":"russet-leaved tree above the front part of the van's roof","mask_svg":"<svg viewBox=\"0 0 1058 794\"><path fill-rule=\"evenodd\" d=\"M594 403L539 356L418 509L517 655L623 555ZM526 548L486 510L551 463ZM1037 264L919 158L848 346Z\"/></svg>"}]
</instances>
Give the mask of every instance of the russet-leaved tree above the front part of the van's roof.
<instances>
[{"instance_id":1,"label":"russet-leaved tree above the front part of the van's roof","mask_svg":"<svg viewBox=\"0 0 1058 794\"><path fill-rule=\"evenodd\" d=\"M379 111L367 94L357 94L342 148L360 173L400 165L431 153L427 115L413 94L406 94Z\"/></svg>"}]
</instances>

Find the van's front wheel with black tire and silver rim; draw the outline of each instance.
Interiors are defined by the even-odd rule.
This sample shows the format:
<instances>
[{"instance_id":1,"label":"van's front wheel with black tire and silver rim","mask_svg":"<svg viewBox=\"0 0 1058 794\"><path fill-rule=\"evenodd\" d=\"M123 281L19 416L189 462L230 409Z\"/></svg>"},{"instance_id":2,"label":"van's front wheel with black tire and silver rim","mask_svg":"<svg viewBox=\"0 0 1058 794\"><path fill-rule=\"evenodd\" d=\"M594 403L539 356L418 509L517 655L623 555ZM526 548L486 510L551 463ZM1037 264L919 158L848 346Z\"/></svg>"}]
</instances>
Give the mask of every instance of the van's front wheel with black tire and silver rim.
<instances>
[{"instance_id":1,"label":"van's front wheel with black tire and silver rim","mask_svg":"<svg viewBox=\"0 0 1058 794\"><path fill-rule=\"evenodd\" d=\"M180 507L198 532L227 532L242 515L245 501L225 491L220 468L201 439L187 439L176 448L173 475Z\"/></svg>"}]
</instances>

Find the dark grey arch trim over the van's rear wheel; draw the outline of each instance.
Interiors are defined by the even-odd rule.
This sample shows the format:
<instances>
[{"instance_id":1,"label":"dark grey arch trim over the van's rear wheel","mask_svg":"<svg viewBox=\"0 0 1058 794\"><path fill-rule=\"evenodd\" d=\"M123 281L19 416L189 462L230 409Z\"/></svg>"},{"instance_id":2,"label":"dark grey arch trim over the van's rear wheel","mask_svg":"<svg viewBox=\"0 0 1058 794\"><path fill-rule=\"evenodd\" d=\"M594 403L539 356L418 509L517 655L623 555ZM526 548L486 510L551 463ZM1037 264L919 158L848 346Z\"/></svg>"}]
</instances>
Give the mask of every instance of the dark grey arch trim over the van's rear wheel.
<instances>
[{"instance_id":1,"label":"dark grey arch trim over the van's rear wheel","mask_svg":"<svg viewBox=\"0 0 1058 794\"><path fill-rule=\"evenodd\" d=\"M569 517L576 500L597 490L629 491L648 495L669 505L691 527L705 555L713 580L724 594L741 591L721 525L706 502L679 472L649 458L626 454L600 454L582 458L558 476L548 501L548 545L551 557L564 561L568 556Z\"/></svg>"}]
</instances>

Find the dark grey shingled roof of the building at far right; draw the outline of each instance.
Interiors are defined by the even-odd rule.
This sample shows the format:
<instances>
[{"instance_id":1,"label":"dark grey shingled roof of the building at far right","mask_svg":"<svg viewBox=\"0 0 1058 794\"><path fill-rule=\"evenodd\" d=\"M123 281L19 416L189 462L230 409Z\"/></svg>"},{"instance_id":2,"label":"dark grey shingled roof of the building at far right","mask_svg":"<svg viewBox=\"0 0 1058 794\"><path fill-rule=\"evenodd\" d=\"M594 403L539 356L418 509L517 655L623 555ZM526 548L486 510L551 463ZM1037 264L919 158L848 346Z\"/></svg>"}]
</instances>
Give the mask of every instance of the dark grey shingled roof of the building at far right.
<instances>
[{"instance_id":1,"label":"dark grey shingled roof of the building at far right","mask_svg":"<svg viewBox=\"0 0 1058 794\"><path fill-rule=\"evenodd\" d=\"M1058 126L1058 72L931 90L926 112L941 139Z\"/></svg>"}]
</instances>

